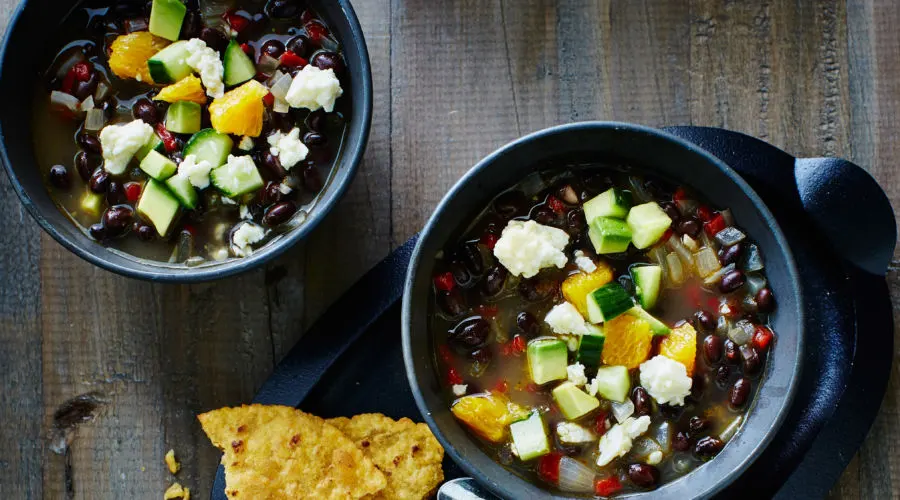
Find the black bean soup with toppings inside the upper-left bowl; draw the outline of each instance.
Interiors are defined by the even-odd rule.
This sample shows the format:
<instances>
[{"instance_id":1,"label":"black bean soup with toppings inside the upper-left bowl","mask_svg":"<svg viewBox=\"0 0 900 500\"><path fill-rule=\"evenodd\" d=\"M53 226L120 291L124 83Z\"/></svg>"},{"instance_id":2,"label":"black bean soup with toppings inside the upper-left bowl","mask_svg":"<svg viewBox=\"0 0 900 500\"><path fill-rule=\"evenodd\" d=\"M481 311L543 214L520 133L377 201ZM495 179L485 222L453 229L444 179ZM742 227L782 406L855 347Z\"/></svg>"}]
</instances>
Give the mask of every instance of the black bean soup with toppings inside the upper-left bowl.
<instances>
[{"instance_id":1,"label":"black bean soup with toppings inside the upper-left bowl","mask_svg":"<svg viewBox=\"0 0 900 500\"><path fill-rule=\"evenodd\" d=\"M341 47L302 0L88 0L56 31L35 155L91 238L195 266L250 255L303 223L351 102ZM331 95L292 96L304 78Z\"/></svg>"}]
</instances>

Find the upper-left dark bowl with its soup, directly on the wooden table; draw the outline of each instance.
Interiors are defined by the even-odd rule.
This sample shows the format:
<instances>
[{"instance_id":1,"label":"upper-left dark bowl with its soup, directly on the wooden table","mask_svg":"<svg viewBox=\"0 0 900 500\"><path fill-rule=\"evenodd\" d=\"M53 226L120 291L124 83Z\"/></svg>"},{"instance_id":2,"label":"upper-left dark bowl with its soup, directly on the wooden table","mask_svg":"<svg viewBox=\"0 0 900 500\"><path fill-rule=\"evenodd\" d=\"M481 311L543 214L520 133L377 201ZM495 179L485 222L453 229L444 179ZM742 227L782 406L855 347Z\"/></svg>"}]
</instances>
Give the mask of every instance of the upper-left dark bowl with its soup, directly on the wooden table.
<instances>
[{"instance_id":1,"label":"upper-left dark bowl with its soup, directly on the wooden table","mask_svg":"<svg viewBox=\"0 0 900 500\"><path fill-rule=\"evenodd\" d=\"M345 0L25 1L0 74L16 96L0 154L28 212L89 262L157 281L233 275L303 239L371 119Z\"/></svg>"}]
</instances>

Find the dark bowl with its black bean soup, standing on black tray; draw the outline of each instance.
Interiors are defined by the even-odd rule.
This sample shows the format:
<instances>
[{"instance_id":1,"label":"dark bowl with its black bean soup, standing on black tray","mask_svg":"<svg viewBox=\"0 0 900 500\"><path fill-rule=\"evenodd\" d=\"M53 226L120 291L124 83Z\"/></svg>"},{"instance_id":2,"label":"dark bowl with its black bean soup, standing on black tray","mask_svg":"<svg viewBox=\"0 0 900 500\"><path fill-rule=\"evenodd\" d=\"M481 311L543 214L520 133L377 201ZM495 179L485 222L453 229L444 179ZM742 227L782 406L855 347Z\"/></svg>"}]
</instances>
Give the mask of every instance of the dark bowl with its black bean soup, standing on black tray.
<instances>
[{"instance_id":1,"label":"dark bowl with its black bean soup, standing on black tray","mask_svg":"<svg viewBox=\"0 0 900 500\"><path fill-rule=\"evenodd\" d=\"M797 270L728 166L646 127L543 130L476 165L403 298L425 420L504 498L713 495L796 390Z\"/></svg>"}]
</instances>

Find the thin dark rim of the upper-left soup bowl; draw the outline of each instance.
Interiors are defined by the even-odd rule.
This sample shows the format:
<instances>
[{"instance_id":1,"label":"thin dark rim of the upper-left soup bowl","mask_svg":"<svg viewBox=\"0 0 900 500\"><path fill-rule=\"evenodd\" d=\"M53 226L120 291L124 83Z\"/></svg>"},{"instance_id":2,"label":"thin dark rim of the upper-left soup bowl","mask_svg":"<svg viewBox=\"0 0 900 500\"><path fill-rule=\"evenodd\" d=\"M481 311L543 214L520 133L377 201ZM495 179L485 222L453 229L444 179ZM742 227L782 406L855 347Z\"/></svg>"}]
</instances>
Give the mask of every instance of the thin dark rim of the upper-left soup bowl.
<instances>
[{"instance_id":1,"label":"thin dark rim of the upper-left soup bowl","mask_svg":"<svg viewBox=\"0 0 900 500\"><path fill-rule=\"evenodd\" d=\"M19 181L18 176L13 171L12 162L7 152L6 134L3 130L3 122L0 121L0 163L6 171L6 176L12 185L13 190L24 205L26 211L31 215L38 225L59 244L70 252L81 257L107 271L112 271L122 276L130 278L138 278L147 281L164 282L164 283L202 283L207 281L218 280L234 276L256 267L264 265L272 259L285 253L292 248L297 242L309 235L328 214L334 209L334 206L343 199L344 195L352 184L356 176L359 166L362 163L366 145L369 141L369 133L372 128L372 106L373 106L373 86L372 86L372 68L369 60L369 50L363 36L362 26L359 18L350 4L350 0L336 0L343 16L347 21L351 36L349 40L343 40L344 45L352 43L355 45L359 53L360 71L354 80L359 81L361 86L361 99L354 100L353 113L359 116L361 132L356 136L347 135L344 139L339 161L335 162L332 168L338 168L341 163L345 163L346 177L340 183L336 183L332 191L324 199L317 203L317 211L315 216L308 217L299 227L284 233L277 241L269 245L263 246L253 255L242 257L240 259L232 259L221 264L211 266L199 266L196 268L168 268L166 266L154 266L153 261L141 263L145 267L131 267L128 265L112 262L101 254L92 252L89 248L83 247L66 235L58 231L55 225L45 217L40 209L35 205L34 201L28 195L25 187ZM9 18L6 31L3 34L2 46L0 46L0 78L4 73L7 52L10 50L10 38L21 20L22 13L28 4L28 0L22 0L16 6L15 11ZM353 154L347 154L352 152ZM325 191L323 191L324 193ZM130 254L129 254L130 255Z\"/></svg>"}]
</instances>

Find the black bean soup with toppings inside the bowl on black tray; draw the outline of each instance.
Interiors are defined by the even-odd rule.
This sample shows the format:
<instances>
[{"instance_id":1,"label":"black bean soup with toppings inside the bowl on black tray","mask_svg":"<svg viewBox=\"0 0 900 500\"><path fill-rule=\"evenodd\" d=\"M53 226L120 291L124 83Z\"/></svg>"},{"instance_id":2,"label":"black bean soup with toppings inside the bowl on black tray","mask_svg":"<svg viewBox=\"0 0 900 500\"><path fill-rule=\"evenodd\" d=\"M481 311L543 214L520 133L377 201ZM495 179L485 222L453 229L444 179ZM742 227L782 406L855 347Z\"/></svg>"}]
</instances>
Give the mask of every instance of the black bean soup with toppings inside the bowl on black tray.
<instances>
[{"instance_id":1,"label":"black bean soup with toppings inside the bowl on black tray","mask_svg":"<svg viewBox=\"0 0 900 500\"><path fill-rule=\"evenodd\" d=\"M627 167L531 175L433 278L453 414L550 490L645 491L713 459L774 347L763 260L731 212Z\"/></svg>"}]
</instances>

